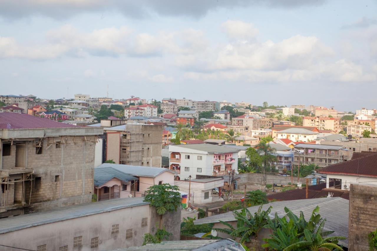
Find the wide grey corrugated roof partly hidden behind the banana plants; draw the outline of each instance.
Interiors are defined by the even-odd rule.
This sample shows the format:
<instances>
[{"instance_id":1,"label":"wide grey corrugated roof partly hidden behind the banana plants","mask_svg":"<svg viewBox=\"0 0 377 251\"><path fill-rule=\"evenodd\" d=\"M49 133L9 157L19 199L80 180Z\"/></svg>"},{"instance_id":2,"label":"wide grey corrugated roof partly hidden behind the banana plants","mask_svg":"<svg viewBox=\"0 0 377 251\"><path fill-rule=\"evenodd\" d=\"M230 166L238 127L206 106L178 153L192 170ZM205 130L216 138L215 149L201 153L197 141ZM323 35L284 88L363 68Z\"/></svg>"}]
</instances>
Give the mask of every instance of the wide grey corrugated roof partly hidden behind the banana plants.
<instances>
[{"instance_id":1,"label":"wide grey corrugated roof partly hidden behind the banana plants","mask_svg":"<svg viewBox=\"0 0 377 251\"><path fill-rule=\"evenodd\" d=\"M273 218L275 213L279 217L285 215L284 207L288 207L297 216L300 215L300 211L304 213L305 219L309 220L313 209L319 206L319 214L322 218L326 219L325 231L335 231L331 236L344 236L348 238L348 210L349 201L340 197L332 198L317 198L317 199L303 199L303 200L290 200L276 201L269 204L265 204L262 210L267 210L272 206L270 217ZM260 206L249 207L248 210L251 213L255 213ZM241 210L237 210L241 211ZM205 217L194 221L195 225L203 223L215 223L219 220L224 222L235 221L233 212L224 214L218 214L210 217ZM339 244L348 247L348 239L340 240Z\"/></svg>"}]
</instances>

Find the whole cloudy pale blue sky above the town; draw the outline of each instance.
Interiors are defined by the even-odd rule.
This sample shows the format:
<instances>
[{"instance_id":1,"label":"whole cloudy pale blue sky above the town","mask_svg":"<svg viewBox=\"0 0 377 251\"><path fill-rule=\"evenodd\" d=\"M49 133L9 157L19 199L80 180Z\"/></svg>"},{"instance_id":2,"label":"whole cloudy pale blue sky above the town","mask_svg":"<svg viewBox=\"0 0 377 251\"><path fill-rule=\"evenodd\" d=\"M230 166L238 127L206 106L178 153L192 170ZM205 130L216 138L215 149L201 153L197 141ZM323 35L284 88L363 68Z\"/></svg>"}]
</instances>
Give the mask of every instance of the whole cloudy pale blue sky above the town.
<instances>
[{"instance_id":1,"label":"whole cloudy pale blue sky above the town","mask_svg":"<svg viewBox=\"0 0 377 251\"><path fill-rule=\"evenodd\" d=\"M1 94L374 109L376 13L376 0L2 0Z\"/></svg>"}]
</instances>

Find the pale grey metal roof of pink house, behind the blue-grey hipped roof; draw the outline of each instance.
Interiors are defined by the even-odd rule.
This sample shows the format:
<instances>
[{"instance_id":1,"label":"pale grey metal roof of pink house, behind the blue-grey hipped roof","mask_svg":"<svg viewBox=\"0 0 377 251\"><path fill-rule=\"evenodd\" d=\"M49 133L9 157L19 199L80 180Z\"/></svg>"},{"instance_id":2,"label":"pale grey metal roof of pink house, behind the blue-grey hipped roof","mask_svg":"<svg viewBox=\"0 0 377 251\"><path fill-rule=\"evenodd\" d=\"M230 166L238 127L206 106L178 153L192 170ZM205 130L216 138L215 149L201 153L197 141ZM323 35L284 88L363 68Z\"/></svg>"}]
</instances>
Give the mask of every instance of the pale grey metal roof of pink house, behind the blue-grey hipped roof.
<instances>
[{"instance_id":1,"label":"pale grey metal roof of pink house, behind the blue-grey hipped roof","mask_svg":"<svg viewBox=\"0 0 377 251\"><path fill-rule=\"evenodd\" d=\"M139 176L139 177L153 177L154 178L158 176L159 174L166 171L170 173L174 173L173 171L170 171L169 169L161 168L161 167L143 167L141 165L122 165L122 164L111 164L111 163L103 163L99 165L98 167L95 167L94 170L98 168L104 168L104 167L112 167L123 173L127 173L133 176Z\"/></svg>"}]
</instances>

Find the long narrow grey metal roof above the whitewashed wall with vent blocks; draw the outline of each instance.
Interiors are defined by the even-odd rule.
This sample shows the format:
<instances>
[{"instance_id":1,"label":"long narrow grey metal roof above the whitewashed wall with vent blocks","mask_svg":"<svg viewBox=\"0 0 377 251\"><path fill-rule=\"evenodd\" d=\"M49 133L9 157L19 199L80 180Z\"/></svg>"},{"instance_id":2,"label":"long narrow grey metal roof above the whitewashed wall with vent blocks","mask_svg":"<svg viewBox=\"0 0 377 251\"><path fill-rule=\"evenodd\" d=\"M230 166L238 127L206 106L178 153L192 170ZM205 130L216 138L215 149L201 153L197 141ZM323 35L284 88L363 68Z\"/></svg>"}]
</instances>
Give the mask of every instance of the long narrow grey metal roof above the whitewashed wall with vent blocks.
<instances>
[{"instance_id":1,"label":"long narrow grey metal roof above the whitewashed wall with vent blocks","mask_svg":"<svg viewBox=\"0 0 377 251\"><path fill-rule=\"evenodd\" d=\"M0 219L0 234L61 220L75 219L92 214L149 204L149 202L143 202L143 199L143 197L112 199L3 218Z\"/></svg>"}]
</instances>

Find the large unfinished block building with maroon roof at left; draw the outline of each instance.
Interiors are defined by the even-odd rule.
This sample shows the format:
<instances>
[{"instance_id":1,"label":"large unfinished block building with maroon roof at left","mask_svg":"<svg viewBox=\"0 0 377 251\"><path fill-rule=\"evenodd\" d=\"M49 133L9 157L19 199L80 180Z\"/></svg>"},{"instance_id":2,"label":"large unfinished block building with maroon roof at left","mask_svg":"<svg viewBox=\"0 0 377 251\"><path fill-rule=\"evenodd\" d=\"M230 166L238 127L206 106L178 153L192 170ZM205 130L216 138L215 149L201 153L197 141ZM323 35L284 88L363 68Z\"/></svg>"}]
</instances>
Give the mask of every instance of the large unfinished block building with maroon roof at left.
<instances>
[{"instance_id":1,"label":"large unfinished block building with maroon roof at left","mask_svg":"<svg viewBox=\"0 0 377 251\"><path fill-rule=\"evenodd\" d=\"M90 202L102 128L0 113L0 218Z\"/></svg>"}]
</instances>

